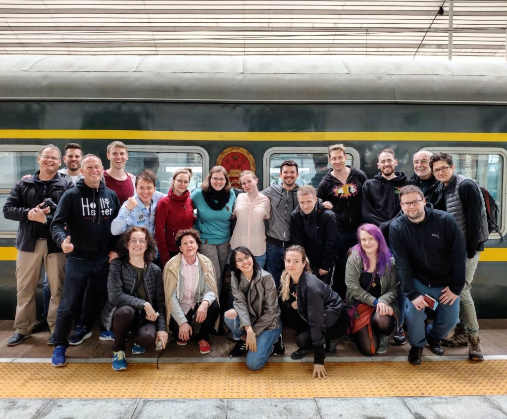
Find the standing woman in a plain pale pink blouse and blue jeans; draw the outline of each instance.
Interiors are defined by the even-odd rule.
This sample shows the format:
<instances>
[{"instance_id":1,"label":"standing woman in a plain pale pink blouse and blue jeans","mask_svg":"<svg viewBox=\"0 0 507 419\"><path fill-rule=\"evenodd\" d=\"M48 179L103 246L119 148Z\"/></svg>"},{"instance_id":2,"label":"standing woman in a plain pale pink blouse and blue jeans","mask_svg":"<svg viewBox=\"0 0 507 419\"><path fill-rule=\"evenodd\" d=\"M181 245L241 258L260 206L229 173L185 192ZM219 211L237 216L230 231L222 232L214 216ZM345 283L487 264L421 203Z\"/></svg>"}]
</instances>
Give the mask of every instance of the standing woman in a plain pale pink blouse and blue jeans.
<instances>
[{"instance_id":1,"label":"standing woman in a plain pale pink blouse and blue jeans","mask_svg":"<svg viewBox=\"0 0 507 419\"><path fill-rule=\"evenodd\" d=\"M259 193L258 179L250 170L239 174L239 182L246 194L239 194L232 215L237 218L231 238L231 249L245 246L251 250L261 269L266 263L266 228L264 220L269 218L269 198Z\"/></svg>"}]
</instances>

